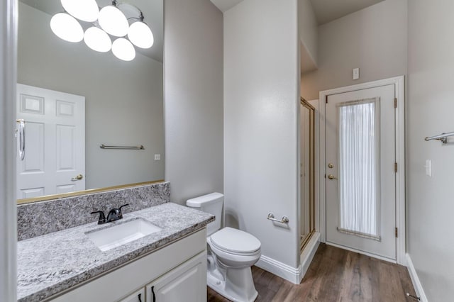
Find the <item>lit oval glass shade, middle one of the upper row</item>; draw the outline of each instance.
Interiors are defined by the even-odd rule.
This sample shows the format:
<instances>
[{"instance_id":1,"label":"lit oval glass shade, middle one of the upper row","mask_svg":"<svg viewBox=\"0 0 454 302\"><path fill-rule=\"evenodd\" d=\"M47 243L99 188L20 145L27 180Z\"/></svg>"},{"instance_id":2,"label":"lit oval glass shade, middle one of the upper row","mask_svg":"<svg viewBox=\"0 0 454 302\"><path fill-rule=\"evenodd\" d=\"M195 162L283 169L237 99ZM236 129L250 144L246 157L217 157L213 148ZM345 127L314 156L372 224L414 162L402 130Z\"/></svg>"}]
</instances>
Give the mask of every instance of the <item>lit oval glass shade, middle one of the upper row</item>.
<instances>
[{"instance_id":1,"label":"lit oval glass shade, middle one of the upper row","mask_svg":"<svg viewBox=\"0 0 454 302\"><path fill-rule=\"evenodd\" d=\"M129 23L126 16L116 6L104 6L99 11L98 22L106 33L124 37L128 33Z\"/></svg>"}]
</instances>

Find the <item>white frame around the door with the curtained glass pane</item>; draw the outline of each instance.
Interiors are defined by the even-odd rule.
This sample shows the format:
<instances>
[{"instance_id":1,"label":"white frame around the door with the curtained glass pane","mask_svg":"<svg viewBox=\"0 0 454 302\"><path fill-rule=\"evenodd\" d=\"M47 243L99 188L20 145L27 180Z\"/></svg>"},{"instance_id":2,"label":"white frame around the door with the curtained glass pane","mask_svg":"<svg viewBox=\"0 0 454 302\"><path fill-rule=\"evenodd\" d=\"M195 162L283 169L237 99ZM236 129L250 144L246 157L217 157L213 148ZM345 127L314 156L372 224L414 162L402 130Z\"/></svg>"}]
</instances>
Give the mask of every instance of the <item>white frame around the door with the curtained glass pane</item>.
<instances>
[{"instance_id":1,"label":"white frame around the door with the curtained glass pane","mask_svg":"<svg viewBox=\"0 0 454 302\"><path fill-rule=\"evenodd\" d=\"M396 259L398 264L406 265L406 230L405 230L405 82L404 76L392 77L389 79L380 79L378 81L344 86L335 89L320 91L319 93L319 219L320 219L320 242L326 242L326 132L325 132L325 114L326 99L333 94L343 94L362 89L370 89L379 86L394 84L394 97L397 99L397 108L395 111L396 121L396 226L398 235L396 238ZM356 251L355 252L360 252ZM365 255L377 257L376 255L360 252ZM382 258L380 258L382 259ZM387 259L389 261L389 259Z\"/></svg>"}]
</instances>

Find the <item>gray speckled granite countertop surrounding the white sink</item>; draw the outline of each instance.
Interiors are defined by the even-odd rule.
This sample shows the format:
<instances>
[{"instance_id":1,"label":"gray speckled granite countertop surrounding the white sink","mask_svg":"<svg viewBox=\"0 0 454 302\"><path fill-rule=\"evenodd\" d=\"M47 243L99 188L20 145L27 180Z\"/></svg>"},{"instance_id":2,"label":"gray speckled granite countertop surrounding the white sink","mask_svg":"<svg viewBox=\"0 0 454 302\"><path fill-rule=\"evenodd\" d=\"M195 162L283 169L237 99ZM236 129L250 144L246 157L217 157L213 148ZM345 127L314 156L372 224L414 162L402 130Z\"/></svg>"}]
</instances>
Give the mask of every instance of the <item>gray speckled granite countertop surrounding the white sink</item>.
<instances>
[{"instance_id":1,"label":"gray speckled granite countertop surrounding the white sink","mask_svg":"<svg viewBox=\"0 0 454 302\"><path fill-rule=\"evenodd\" d=\"M123 211L127 212L127 208ZM85 235L92 230L109 228L136 218L144 218L162 230L106 252L101 252ZM213 220L214 216L209 213L175 203L164 203L123 213L123 219L112 223L98 225L96 220L86 225L19 241L18 301L40 301L70 289L204 228Z\"/></svg>"}]
</instances>

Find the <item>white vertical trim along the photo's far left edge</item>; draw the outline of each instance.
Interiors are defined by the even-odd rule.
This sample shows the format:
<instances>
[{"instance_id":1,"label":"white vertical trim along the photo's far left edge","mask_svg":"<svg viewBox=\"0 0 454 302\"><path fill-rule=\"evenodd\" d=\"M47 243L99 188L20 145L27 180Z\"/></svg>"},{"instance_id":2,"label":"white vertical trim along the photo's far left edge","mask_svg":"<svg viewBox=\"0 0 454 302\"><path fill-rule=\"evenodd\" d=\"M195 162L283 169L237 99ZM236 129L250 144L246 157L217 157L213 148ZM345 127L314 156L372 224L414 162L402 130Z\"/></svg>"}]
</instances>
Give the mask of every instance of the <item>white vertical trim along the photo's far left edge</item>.
<instances>
[{"instance_id":1,"label":"white vertical trim along the photo's far left edge","mask_svg":"<svg viewBox=\"0 0 454 302\"><path fill-rule=\"evenodd\" d=\"M16 301L17 1L1 1L0 16L0 301Z\"/></svg>"}]
</instances>

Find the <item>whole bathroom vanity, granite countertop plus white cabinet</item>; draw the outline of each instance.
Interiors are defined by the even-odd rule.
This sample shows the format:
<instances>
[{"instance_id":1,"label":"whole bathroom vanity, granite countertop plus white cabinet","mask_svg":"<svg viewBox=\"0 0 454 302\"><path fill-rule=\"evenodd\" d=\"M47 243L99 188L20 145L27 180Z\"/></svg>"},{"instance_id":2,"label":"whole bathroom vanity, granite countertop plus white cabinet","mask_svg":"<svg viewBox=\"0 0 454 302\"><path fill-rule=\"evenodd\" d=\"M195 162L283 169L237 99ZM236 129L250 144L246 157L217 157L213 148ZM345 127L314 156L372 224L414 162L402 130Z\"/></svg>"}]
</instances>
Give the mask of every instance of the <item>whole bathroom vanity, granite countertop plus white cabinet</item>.
<instances>
[{"instance_id":1,"label":"whole bathroom vanity, granite countertop plus white cabinet","mask_svg":"<svg viewBox=\"0 0 454 302\"><path fill-rule=\"evenodd\" d=\"M206 300L206 224L214 216L163 203L104 225L93 218L18 242L18 301ZM156 229L116 245L124 237L118 227L137 220ZM114 245L102 251L89 235L106 230L118 238L109 237Z\"/></svg>"}]
</instances>

